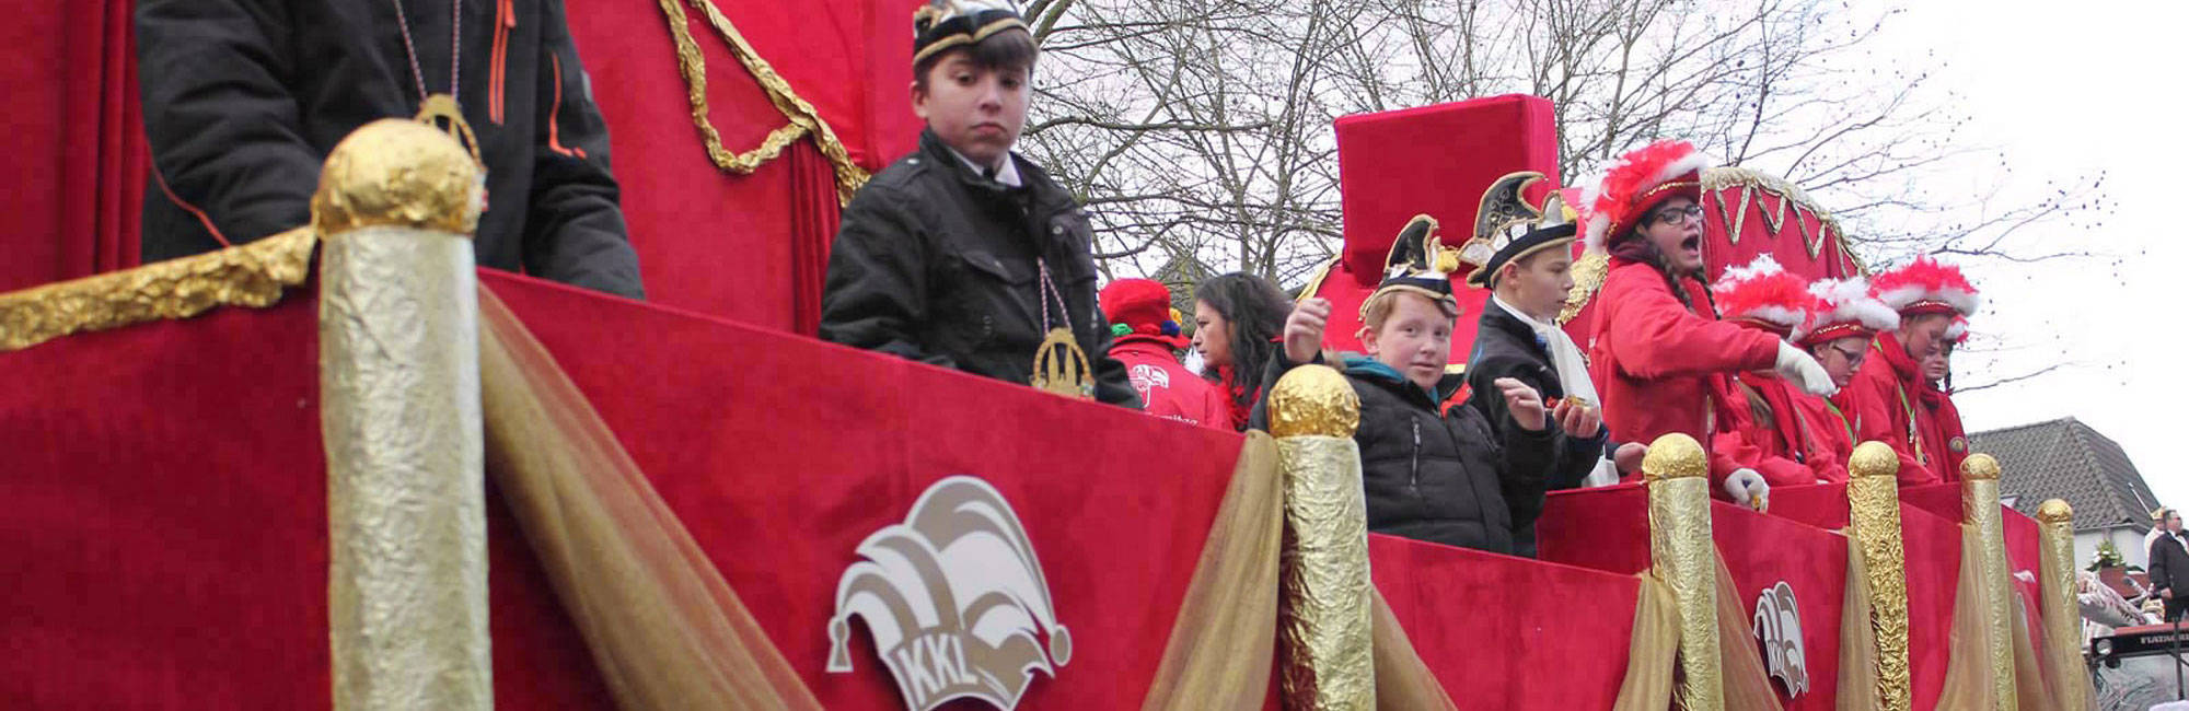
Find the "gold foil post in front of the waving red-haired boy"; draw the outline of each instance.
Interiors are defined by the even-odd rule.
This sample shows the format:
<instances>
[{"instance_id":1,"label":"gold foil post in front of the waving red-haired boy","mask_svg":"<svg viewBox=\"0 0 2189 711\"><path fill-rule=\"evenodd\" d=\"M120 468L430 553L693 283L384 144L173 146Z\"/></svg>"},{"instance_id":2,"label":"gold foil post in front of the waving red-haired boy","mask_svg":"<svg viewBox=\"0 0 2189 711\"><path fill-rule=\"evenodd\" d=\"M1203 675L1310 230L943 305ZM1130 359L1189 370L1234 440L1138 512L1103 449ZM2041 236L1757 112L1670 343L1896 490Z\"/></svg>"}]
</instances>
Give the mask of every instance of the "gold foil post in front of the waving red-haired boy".
<instances>
[{"instance_id":1,"label":"gold foil post in front of the waving red-haired boy","mask_svg":"<svg viewBox=\"0 0 2189 711\"><path fill-rule=\"evenodd\" d=\"M1270 433L1285 466L1276 639L1285 709L1375 709L1357 427L1359 398L1337 370L1300 365L1270 389Z\"/></svg>"}]
</instances>

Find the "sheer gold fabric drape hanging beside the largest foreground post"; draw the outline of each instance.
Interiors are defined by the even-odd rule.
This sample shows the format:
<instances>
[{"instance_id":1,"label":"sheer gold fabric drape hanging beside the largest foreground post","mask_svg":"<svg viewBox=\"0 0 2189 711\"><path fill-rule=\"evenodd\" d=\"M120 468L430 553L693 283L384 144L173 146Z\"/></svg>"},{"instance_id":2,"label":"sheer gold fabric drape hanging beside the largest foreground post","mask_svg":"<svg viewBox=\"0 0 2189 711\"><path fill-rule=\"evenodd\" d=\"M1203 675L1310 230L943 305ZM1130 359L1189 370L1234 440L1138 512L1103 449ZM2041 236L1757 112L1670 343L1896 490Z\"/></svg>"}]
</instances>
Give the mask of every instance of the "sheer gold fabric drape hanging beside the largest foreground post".
<instances>
[{"instance_id":1,"label":"sheer gold fabric drape hanging beside the largest foreground post","mask_svg":"<svg viewBox=\"0 0 2189 711\"><path fill-rule=\"evenodd\" d=\"M821 709L615 433L479 289L486 473L617 707Z\"/></svg>"}]
</instances>

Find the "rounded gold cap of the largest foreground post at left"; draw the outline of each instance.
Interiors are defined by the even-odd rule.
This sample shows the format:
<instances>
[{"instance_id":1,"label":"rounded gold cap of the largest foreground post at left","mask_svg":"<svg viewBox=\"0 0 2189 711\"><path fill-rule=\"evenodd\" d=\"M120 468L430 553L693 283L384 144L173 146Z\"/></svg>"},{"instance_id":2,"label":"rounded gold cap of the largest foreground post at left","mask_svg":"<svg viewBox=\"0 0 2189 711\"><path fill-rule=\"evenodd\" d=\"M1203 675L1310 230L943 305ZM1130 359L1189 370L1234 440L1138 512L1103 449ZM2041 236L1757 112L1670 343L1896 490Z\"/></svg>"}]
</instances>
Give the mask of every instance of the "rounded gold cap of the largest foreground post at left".
<instances>
[{"instance_id":1,"label":"rounded gold cap of the largest foreground post at left","mask_svg":"<svg viewBox=\"0 0 2189 711\"><path fill-rule=\"evenodd\" d=\"M479 164L455 138L416 120L381 118L326 153L311 225L320 236L377 225L471 236L484 190Z\"/></svg>"}]
</instances>

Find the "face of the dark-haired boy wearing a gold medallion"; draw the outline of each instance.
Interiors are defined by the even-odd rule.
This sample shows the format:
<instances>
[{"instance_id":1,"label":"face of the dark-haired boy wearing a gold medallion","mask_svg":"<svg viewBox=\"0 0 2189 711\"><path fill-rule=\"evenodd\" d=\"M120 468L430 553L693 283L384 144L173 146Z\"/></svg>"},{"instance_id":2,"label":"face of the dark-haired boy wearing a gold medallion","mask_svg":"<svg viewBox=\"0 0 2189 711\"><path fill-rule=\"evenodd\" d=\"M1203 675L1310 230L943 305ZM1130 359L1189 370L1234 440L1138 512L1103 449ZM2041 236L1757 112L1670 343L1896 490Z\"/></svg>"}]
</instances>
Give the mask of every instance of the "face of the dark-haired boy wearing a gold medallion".
<instances>
[{"instance_id":1,"label":"face of the dark-haired boy wearing a gold medallion","mask_svg":"<svg viewBox=\"0 0 2189 711\"><path fill-rule=\"evenodd\" d=\"M981 68L968 50L950 50L913 83L919 114L950 149L976 164L996 164L1027 127L1027 68Z\"/></svg>"}]
</instances>

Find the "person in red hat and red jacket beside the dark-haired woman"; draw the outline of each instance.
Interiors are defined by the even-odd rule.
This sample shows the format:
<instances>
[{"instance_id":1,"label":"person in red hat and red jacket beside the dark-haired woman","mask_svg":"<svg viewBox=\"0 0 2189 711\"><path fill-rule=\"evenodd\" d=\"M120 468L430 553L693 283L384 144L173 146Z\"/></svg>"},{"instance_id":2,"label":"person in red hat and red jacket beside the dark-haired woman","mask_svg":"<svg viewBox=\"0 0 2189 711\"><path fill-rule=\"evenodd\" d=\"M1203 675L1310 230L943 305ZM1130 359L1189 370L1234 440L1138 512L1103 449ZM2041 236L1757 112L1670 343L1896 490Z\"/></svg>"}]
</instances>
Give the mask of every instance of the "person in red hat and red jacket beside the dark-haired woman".
<instances>
[{"instance_id":1,"label":"person in red hat and red jacket beside the dark-haired woman","mask_svg":"<svg viewBox=\"0 0 2189 711\"><path fill-rule=\"evenodd\" d=\"M1114 280L1101 289L1101 313L1116 335L1110 357L1125 363L1147 413L1230 429L1230 407L1217 387L1178 363L1186 339L1171 317L1171 289L1156 280Z\"/></svg>"}]
</instances>

